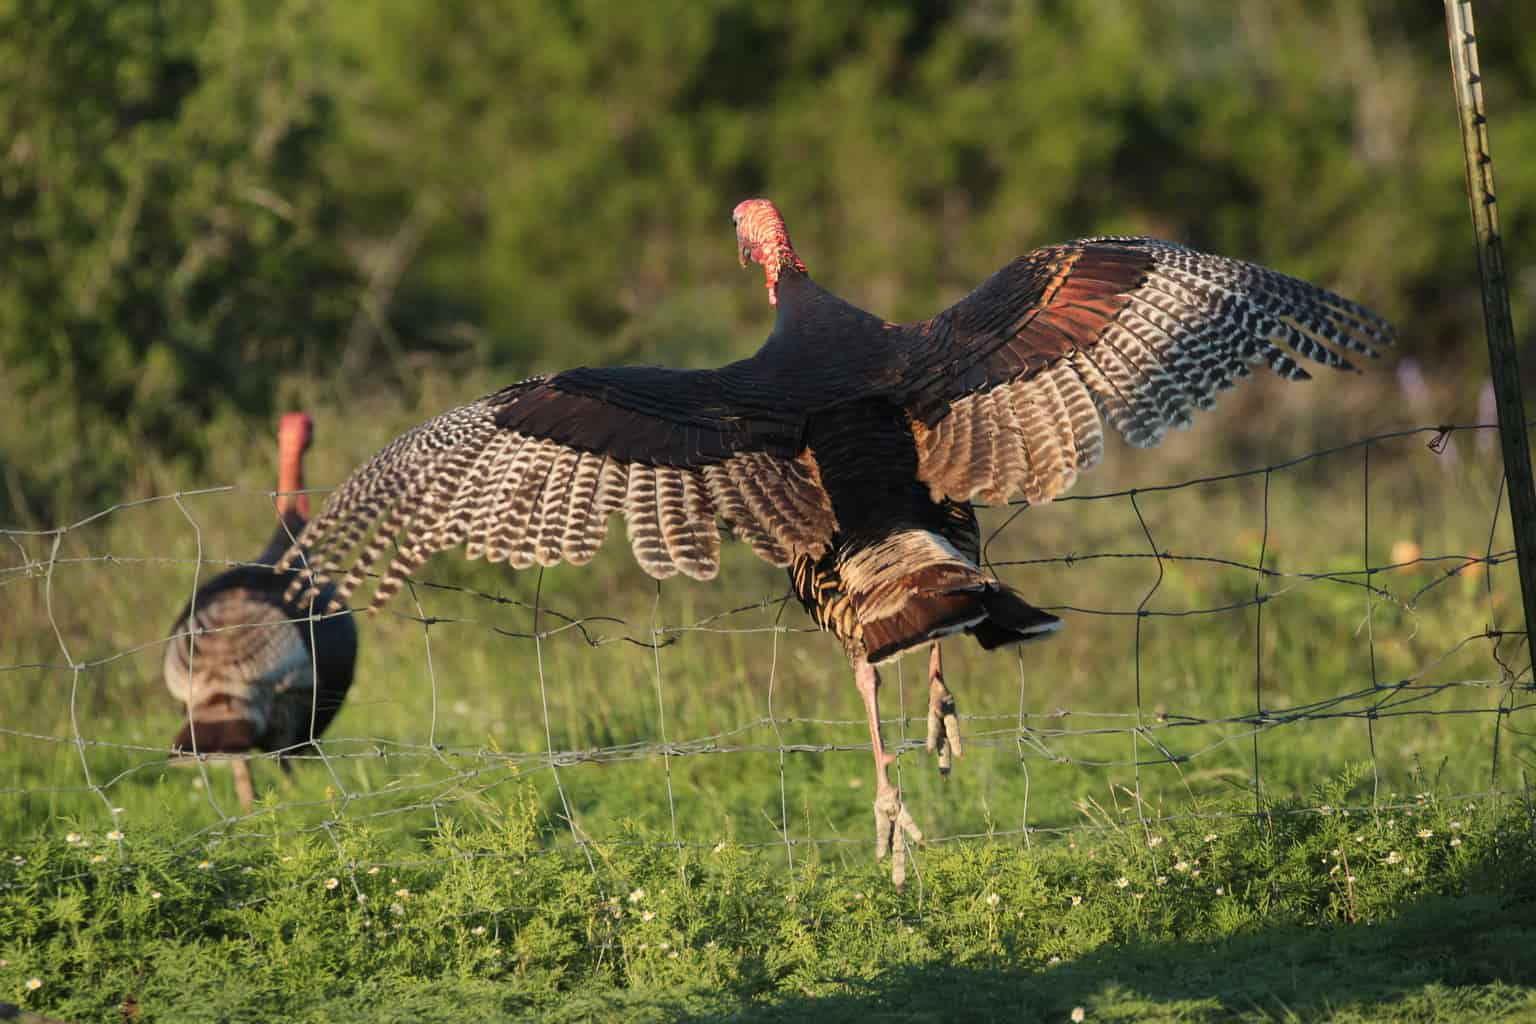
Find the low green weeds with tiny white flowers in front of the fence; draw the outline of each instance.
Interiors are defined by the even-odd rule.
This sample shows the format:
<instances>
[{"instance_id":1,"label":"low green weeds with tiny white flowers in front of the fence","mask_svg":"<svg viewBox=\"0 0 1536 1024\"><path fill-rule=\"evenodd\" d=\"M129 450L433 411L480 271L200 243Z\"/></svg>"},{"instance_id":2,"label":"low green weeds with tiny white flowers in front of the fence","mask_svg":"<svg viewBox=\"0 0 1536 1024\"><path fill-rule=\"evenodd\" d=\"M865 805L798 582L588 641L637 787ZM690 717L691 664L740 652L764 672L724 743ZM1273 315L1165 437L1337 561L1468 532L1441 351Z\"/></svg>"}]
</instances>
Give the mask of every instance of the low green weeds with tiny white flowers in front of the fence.
<instances>
[{"instance_id":1,"label":"low green weeds with tiny white flowers in front of the fence","mask_svg":"<svg viewBox=\"0 0 1536 1024\"><path fill-rule=\"evenodd\" d=\"M1350 811L1353 783L1309 795L1327 814L949 844L905 892L639 827L588 864L548 849L531 788L404 860L349 824L249 823L209 855L172 821L60 834L0 863L0 996L144 1021L1536 1016L1530 809Z\"/></svg>"}]
</instances>

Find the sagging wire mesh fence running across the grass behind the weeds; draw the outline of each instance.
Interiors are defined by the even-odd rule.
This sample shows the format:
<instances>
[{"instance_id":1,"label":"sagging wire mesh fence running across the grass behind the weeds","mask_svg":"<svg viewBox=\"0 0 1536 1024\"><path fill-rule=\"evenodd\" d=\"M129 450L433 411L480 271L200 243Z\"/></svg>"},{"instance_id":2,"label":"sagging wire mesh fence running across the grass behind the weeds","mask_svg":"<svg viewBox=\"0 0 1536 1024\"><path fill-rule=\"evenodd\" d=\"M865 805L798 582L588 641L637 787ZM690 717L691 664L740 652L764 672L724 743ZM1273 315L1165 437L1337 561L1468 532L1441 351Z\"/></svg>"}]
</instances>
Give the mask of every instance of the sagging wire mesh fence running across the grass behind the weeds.
<instances>
[{"instance_id":1,"label":"sagging wire mesh fence running across the grass behind the weeds","mask_svg":"<svg viewBox=\"0 0 1536 1024\"><path fill-rule=\"evenodd\" d=\"M253 548L275 497L206 488L0 530L6 831L169 809L187 849L352 824L409 849L525 792L548 849L588 860L593 841L731 838L788 864L869 846L869 743L836 642L750 556L716 585L659 585L613 537L584 570L441 556L359 617L358 680L292 778L241 755L270 792L238 809L226 757L170 757L184 711L160 660L197 582L241 563L214 548ZM1536 751L1508 537L1490 424L994 510L983 560L1068 629L989 656L948 642L965 732L948 778L923 752L926 676L886 671L903 797L937 844L1246 814L1232 794L1330 812L1318 788L1352 763L1366 811L1413 786L1490 798Z\"/></svg>"}]
</instances>

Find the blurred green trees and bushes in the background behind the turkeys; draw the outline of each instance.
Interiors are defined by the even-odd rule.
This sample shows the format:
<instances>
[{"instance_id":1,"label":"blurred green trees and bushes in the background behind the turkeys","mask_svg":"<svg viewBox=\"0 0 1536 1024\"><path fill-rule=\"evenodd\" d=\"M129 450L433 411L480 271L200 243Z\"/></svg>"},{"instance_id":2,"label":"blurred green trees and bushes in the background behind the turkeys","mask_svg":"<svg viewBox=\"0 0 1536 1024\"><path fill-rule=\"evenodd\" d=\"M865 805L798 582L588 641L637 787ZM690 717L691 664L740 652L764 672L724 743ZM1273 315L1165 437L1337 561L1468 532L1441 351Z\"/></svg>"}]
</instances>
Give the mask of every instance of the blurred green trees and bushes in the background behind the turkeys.
<instances>
[{"instance_id":1,"label":"blurred green trees and bushes in the background behind the turkeys","mask_svg":"<svg viewBox=\"0 0 1536 1024\"><path fill-rule=\"evenodd\" d=\"M1522 6L1478 25L1528 339ZM756 193L891 318L1154 233L1476 379L1461 160L1419 0L0 0L0 514L132 496L146 454L192 485L221 421L427 372L743 355Z\"/></svg>"}]
</instances>

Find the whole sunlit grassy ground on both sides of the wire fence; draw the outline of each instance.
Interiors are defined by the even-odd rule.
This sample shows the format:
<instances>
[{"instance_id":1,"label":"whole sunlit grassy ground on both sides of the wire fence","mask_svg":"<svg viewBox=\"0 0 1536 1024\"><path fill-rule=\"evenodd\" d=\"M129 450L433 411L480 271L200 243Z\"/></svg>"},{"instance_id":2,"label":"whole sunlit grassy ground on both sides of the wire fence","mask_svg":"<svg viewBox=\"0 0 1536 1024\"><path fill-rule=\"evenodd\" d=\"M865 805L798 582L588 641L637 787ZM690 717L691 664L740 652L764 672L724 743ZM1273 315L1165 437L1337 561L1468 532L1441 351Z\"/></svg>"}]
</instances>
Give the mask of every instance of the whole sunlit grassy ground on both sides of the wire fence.
<instances>
[{"instance_id":1,"label":"whole sunlit grassy ground on both sides of the wire fence","mask_svg":"<svg viewBox=\"0 0 1536 1024\"><path fill-rule=\"evenodd\" d=\"M321 405L312 481L473 391L427 381L421 408L353 408L349 430ZM1392 425L1379 391L1252 391L1157 457L1112 451L1078 491ZM1272 438L1236 430L1260 408ZM257 763L252 815L221 765L167 768L160 640L194 573L250 557L270 522L270 442L220 430L212 481L233 491L117 510L57 548L0 539L0 852L25 860L0 864L0 999L81 1019L129 995L143 1019L1536 1015L1536 858L1522 800L1490 795L1536 768L1528 659L1485 636L1518 628L1518 590L1505 563L1450 574L1508 547L1475 434L988 513L998 571L1068 628L948 646L966 715L949 778L920 751L922 662L885 672L935 840L899 895L836 645L748 553L657 588L622 527L584 570L430 565L364 622L324 761ZM147 465L143 493L190 484ZM1244 817L1260 803L1373 811ZM1201 875L1175 869L1195 857Z\"/></svg>"}]
</instances>

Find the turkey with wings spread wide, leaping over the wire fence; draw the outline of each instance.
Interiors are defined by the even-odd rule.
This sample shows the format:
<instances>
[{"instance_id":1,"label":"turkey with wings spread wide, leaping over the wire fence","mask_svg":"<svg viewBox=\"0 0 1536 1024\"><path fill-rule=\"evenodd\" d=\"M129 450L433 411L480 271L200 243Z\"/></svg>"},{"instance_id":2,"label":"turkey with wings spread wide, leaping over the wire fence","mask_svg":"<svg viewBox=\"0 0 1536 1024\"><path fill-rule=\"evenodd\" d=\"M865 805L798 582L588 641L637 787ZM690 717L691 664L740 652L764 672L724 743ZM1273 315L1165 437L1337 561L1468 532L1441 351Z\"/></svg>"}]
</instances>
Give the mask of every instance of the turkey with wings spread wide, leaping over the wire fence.
<instances>
[{"instance_id":1,"label":"turkey with wings spread wide, leaping over the wire fence","mask_svg":"<svg viewBox=\"0 0 1536 1024\"><path fill-rule=\"evenodd\" d=\"M978 567L971 502L1041 504L1267 364L1350 368L1390 325L1312 284L1150 238L1089 238L1008 264L937 316L892 324L816 284L779 210L733 215L742 266L777 309L748 359L717 370L576 368L447 411L373 456L304 531L344 599L392 547L373 605L436 551L515 568L584 563L622 513L641 567L710 579L717 520L774 565L842 640L869 720L876 855L905 878L922 840L880 740L876 665L937 637L983 648L1060 622ZM284 565L296 563L296 550ZM937 648L929 737L958 738ZM952 745L952 743L951 743Z\"/></svg>"}]
</instances>

